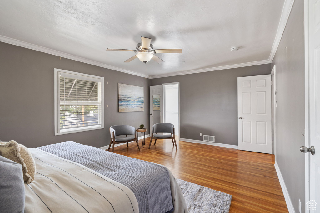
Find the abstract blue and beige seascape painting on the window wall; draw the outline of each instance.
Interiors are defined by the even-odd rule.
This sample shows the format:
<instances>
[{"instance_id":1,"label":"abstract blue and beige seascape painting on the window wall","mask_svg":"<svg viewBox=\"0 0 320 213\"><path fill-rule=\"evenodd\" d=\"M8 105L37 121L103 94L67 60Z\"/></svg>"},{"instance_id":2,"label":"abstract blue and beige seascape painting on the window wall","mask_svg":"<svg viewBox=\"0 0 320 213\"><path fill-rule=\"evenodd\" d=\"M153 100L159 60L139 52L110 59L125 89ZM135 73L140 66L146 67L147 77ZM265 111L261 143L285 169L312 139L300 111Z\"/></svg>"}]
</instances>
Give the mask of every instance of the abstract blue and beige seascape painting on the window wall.
<instances>
[{"instance_id":1,"label":"abstract blue and beige seascape painting on the window wall","mask_svg":"<svg viewBox=\"0 0 320 213\"><path fill-rule=\"evenodd\" d=\"M118 84L119 112L144 110L143 87Z\"/></svg>"}]
</instances>

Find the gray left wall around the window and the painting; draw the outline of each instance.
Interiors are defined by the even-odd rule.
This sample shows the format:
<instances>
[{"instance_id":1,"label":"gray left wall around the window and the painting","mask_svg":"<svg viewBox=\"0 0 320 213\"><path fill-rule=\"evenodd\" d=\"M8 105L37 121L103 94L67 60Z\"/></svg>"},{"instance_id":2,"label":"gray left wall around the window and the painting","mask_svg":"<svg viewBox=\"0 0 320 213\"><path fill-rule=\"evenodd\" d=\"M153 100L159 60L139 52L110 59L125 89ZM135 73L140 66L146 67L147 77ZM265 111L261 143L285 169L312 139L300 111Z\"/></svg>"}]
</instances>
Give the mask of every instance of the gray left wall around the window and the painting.
<instances>
[{"instance_id":1,"label":"gray left wall around the window and the painting","mask_svg":"<svg viewBox=\"0 0 320 213\"><path fill-rule=\"evenodd\" d=\"M62 141L102 147L110 142L112 125L150 126L150 79L59 58L0 42L1 141L15 140L28 148ZM104 129L54 136L54 68L104 77ZM118 83L144 87L144 111L118 112Z\"/></svg>"}]
</instances>

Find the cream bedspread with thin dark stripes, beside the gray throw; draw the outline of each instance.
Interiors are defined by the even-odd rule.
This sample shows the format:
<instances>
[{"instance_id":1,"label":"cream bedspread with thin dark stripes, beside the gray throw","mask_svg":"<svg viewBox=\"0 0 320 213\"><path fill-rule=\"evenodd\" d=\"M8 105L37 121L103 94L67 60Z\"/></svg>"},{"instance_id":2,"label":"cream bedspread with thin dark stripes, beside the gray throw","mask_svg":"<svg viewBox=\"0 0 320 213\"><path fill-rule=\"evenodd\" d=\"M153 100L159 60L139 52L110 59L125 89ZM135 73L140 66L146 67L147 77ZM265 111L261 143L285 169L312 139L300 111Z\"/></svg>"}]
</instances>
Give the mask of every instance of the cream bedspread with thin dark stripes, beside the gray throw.
<instances>
[{"instance_id":1,"label":"cream bedspread with thin dark stripes, beside the gray throw","mask_svg":"<svg viewBox=\"0 0 320 213\"><path fill-rule=\"evenodd\" d=\"M25 212L139 212L132 190L123 184L40 149L29 150L36 178L25 184Z\"/></svg>"}]
</instances>

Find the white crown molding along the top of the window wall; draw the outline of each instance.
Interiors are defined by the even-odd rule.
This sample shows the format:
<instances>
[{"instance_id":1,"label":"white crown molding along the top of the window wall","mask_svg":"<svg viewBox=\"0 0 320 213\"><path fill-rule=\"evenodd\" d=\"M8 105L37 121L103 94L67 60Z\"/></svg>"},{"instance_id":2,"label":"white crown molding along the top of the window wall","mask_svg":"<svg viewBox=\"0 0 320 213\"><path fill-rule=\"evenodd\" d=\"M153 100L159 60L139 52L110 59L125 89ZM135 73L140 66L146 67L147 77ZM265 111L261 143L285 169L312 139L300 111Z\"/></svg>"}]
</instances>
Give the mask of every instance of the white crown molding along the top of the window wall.
<instances>
[{"instance_id":1,"label":"white crown molding along the top of the window wall","mask_svg":"<svg viewBox=\"0 0 320 213\"><path fill-rule=\"evenodd\" d=\"M13 39L13 38L9 38L9 37L5 37L5 36L2 36L2 35L0 35L0 42L13 44L13 45L24 47L24 48L28 48L28 49L33 49L33 50L36 50L36 51L48 53L48 54L59 56L59 57L63 57L63 58L68 58L68 59L79 61L79 62L83 62L83 63L86 63L86 64L91 64L91 65L95 65L95 66L104 67L104 68L111 69L111 70L116 70L116 71L119 71L119 72L125 72L125 73L131 74L131 75L137 75L137 76L140 76L140 77L143 77L143 78L150 78L150 76L145 75L145 74L141 74L141 73L138 73L138 72L133 72L133 71L130 71L130 70L119 68L119 67L103 64L101 62L92 61L92 60L89 60L89 59L86 59L86 58L74 56L74 55L71 55L71 54L68 54L68 53L63 53L63 52L60 52L60 51L57 51L57 50L54 50L54 49L49 49L49 48L46 48L46 47L41 47L41 46L38 46L38 45L35 45L35 44L31 44L31 43L28 43L28 42L23 42L23 41L20 41L20 40L17 40L17 39Z\"/></svg>"}]
</instances>

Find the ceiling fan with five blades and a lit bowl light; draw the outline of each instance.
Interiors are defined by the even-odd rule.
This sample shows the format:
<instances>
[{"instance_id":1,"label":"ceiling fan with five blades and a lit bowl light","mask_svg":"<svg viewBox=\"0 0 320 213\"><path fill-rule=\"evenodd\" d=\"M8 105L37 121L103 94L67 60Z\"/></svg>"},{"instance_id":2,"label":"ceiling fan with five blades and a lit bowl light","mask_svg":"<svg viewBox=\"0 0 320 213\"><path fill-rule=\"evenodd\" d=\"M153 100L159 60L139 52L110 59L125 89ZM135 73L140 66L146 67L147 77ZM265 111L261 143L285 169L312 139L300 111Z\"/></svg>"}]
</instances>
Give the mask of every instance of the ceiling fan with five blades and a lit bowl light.
<instances>
[{"instance_id":1,"label":"ceiling fan with five blades and a lit bowl light","mask_svg":"<svg viewBox=\"0 0 320 213\"><path fill-rule=\"evenodd\" d=\"M124 61L124 63L128 63L135 58L139 58L139 60L145 64L151 59L155 60L158 64L160 64L161 62L164 62L164 60L154 55L156 53L182 53L182 49L153 49L153 45L151 44L151 38L146 38L146 37L141 37L141 43L138 43L136 45L136 49L137 50L108 48L107 50L136 52L137 55Z\"/></svg>"}]
</instances>

